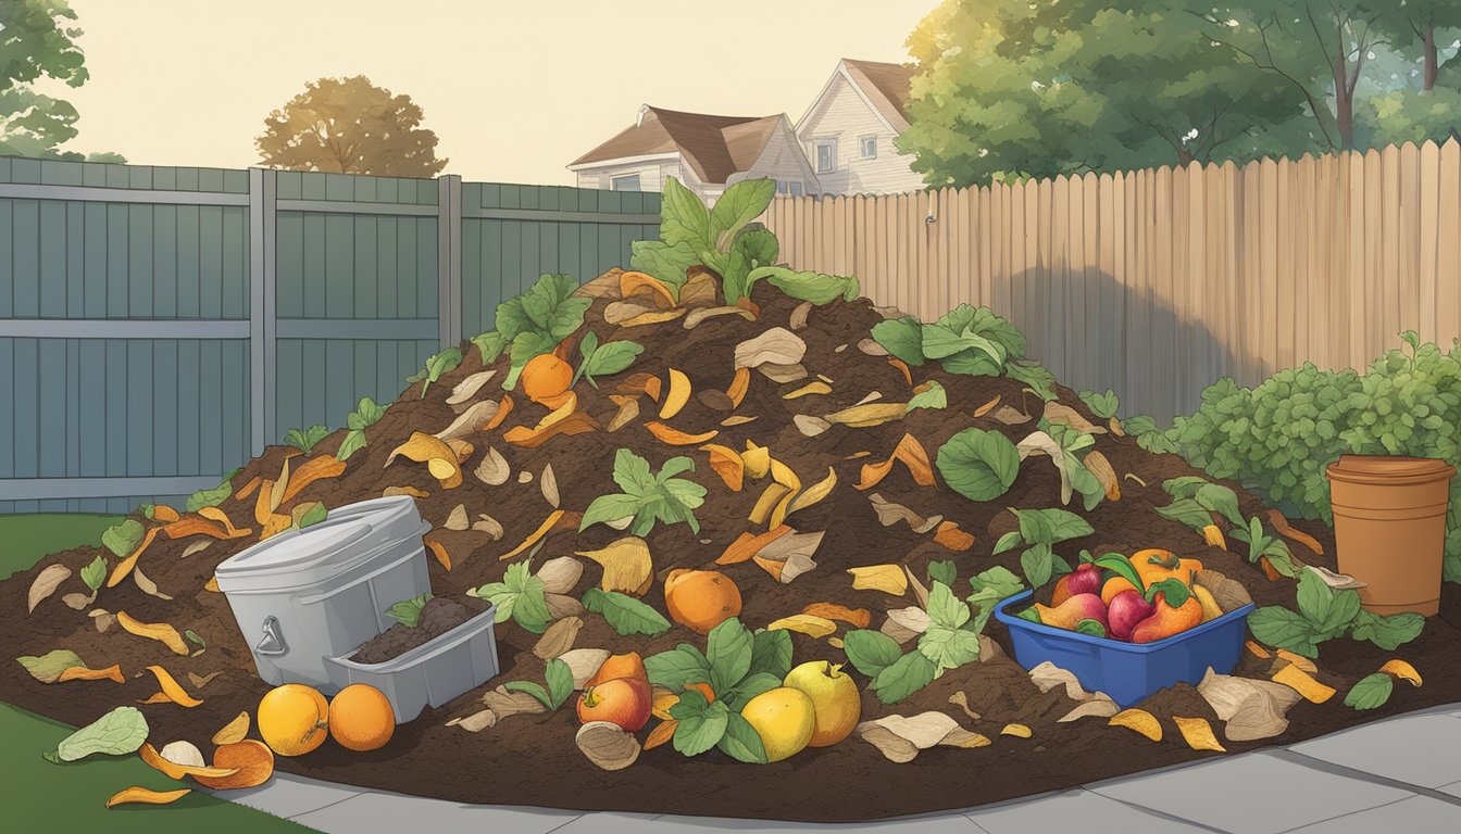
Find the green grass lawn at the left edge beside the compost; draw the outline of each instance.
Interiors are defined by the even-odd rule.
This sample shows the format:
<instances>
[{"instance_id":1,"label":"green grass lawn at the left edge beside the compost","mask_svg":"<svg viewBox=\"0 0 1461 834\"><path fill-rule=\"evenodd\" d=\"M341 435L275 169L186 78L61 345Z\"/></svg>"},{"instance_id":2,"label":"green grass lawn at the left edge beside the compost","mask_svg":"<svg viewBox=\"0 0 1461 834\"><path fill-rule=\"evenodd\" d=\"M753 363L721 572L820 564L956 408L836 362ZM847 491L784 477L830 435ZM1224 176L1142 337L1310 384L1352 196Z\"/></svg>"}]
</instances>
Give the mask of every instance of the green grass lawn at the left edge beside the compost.
<instances>
[{"instance_id":1,"label":"green grass lawn at the left edge beside the compost","mask_svg":"<svg viewBox=\"0 0 1461 834\"><path fill-rule=\"evenodd\" d=\"M0 578L29 568L41 556L96 542L115 524L108 516L0 516ZM72 727L0 704L0 828L6 831L107 831L162 834L298 833L286 819L216 799L202 790L172 805L129 805L108 811L112 793L142 786L177 790L134 755L94 755L51 764L42 752L72 733Z\"/></svg>"}]
</instances>

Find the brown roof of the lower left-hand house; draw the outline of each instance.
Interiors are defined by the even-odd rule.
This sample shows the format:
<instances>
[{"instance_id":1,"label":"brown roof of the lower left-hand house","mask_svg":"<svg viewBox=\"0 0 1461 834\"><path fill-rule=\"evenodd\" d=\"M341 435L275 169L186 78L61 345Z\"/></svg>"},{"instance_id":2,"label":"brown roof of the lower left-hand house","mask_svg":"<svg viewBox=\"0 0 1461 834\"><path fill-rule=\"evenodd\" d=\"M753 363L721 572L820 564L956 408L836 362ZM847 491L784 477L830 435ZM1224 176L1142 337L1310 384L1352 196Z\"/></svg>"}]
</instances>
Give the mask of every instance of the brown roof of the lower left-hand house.
<instances>
[{"instance_id":1,"label":"brown roof of the lower left-hand house","mask_svg":"<svg viewBox=\"0 0 1461 834\"><path fill-rule=\"evenodd\" d=\"M679 152L703 183L725 183L766 150L785 115L707 115L644 105L636 124L573 161L573 167Z\"/></svg>"}]
</instances>

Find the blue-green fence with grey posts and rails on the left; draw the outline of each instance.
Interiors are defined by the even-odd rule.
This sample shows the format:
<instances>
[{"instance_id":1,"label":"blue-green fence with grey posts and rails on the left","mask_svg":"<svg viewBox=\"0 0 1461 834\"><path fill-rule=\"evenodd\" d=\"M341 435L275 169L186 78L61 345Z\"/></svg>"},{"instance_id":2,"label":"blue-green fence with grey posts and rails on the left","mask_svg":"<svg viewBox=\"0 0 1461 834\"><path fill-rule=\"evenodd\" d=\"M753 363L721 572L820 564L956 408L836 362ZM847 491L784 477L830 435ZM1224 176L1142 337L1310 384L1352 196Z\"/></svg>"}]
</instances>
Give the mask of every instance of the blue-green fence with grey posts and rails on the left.
<instances>
[{"instance_id":1,"label":"blue-green fence with grey posts and rails on the left","mask_svg":"<svg viewBox=\"0 0 1461 834\"><path fill-rule=\"evenodd\" d=\"M288 428L394 400L541 273L625 264L657 212L456 177L0 158L0 513L212 486Z\"/></svg>"}]
</instances>

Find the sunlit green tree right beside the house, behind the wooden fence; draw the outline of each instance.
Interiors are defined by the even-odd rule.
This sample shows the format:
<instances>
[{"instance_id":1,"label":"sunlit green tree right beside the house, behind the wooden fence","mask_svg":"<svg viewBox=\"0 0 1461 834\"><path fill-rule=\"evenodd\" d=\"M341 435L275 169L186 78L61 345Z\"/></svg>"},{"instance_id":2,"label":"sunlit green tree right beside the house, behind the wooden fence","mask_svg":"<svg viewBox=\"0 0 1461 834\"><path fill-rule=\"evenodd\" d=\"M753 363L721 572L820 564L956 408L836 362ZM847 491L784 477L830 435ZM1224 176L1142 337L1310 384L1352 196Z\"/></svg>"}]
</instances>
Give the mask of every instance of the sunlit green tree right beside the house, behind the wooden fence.
<instances>
[{"instance_id":1,"label":"sunlit green tree right beside the house, behind the wooden fence","mask_svg":"<svg viewBox=\"0 0 1461 834\"><path fill-rule=\"evenodd\" d=\"M1249 158L1302 95L1205 35L1176 0L945 0L899 148L932 185Z\"/></svg>"}]
</instances>

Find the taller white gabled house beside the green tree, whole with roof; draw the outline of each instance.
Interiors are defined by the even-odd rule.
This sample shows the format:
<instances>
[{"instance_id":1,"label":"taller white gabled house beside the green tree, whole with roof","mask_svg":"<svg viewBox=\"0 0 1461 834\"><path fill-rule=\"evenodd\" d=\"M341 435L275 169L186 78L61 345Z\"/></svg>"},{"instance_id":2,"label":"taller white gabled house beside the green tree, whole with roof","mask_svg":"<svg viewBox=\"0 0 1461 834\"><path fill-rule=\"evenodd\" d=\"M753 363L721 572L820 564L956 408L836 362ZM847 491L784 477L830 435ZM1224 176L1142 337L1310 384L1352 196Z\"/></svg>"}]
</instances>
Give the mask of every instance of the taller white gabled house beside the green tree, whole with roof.
<instances>
[{"instance_id":1,"label":"taller white gabled house beside the green tree, whole with roof","mask_svg":"<svg viewBox=\"0 0 1461 834\"><path fill-rule=\"evenodd\" d=\"M796 137L825 194L897 194L923 190L913 155L893 140L907 130L913 67L843 58L796 123Z\"/></svg>"}]
</instances>

